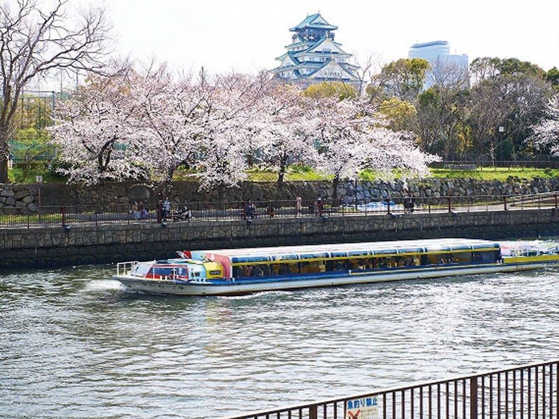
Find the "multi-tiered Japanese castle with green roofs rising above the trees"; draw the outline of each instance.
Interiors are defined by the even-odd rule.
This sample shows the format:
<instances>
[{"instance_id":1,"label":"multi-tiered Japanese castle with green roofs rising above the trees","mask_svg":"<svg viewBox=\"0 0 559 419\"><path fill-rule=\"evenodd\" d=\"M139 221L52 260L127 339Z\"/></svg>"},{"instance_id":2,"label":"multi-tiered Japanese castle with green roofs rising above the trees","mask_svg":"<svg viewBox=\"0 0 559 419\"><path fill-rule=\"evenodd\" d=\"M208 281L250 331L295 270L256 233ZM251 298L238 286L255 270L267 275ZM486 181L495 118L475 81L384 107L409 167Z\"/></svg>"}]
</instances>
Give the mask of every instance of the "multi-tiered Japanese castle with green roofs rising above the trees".
<instances>
[{"instance_id":1,"label":"multi-tiered Japanese castle with green roofs rising above the trees","mask_svg":"<svg viewBox=\"0 0 559 419\"><path fill-rule=\"evenodd\" d=\"M289 31L293 32L287 52L276 60L281 64L270 70L277 78L300 80L305 84L325 81L358 84L357 66L349 63L351 54L334 41L337 26L329 24L320 13L307 16Z\"/></svg>"}]
</instances>

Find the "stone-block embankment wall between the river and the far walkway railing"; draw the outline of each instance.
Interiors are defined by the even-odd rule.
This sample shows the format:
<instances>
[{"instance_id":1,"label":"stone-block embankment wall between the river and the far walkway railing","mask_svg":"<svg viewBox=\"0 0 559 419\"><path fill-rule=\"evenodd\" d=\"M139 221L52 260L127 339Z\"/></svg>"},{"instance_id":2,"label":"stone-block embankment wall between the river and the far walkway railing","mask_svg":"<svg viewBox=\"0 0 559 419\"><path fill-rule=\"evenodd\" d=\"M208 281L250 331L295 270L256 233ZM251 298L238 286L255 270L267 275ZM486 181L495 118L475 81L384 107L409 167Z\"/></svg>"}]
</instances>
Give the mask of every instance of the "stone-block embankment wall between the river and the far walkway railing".
<instances>
[{"instance_id":1,"label":"stone-block embankment wall between the river and the far walkway railing","mask_svg":"<svg viewBox=\"0 0 559 419\"><path fill-rule=\"evenodd\" d=\"M257 218L252 223L183 221L6 228L0 269L150 260L184 249L472 237L490 240L559 235L559 211L512 210Z\"/></svg>"}]
</instances>

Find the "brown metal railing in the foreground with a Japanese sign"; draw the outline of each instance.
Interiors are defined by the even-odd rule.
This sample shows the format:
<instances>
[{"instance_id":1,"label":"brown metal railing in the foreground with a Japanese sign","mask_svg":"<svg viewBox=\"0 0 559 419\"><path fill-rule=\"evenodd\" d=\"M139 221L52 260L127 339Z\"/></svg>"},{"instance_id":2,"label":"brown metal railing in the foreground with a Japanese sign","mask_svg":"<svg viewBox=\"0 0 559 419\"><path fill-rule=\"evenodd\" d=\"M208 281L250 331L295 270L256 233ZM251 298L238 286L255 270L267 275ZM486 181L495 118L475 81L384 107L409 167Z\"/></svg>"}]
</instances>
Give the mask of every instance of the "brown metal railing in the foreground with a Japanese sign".
<instances>
[{"instance_id":1,"label":"brown metal railing in the foreground with a Japanese sign","mask_svg":"<svg viewBox=\"0 0 559 419\"><path fill-rule=\"evenodd\" d=\"M229 419L559 418L558 366L523 365Z\"/></svg>"}]
</instances>

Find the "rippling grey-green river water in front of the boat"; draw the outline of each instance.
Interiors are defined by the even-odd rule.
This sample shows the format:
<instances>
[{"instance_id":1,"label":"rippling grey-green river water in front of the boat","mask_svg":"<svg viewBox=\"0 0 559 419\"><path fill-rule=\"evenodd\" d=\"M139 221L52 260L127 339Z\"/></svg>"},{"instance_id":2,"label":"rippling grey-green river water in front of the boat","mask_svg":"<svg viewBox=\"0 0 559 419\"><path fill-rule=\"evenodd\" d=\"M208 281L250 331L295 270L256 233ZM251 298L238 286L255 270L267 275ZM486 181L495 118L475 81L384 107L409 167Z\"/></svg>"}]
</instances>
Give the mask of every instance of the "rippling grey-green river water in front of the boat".
<instances>
[{"instance_id":1,"label":"rippling grey-green river water in front of the boat","mask_svg":"<svg viewBox=\"0 0 559 419\"><path fill-rule=\"evenodd\" d=\"M0 276L0 417L220 418L556 360L559 270L242 297Z\"/></svg>"}]
</instances>

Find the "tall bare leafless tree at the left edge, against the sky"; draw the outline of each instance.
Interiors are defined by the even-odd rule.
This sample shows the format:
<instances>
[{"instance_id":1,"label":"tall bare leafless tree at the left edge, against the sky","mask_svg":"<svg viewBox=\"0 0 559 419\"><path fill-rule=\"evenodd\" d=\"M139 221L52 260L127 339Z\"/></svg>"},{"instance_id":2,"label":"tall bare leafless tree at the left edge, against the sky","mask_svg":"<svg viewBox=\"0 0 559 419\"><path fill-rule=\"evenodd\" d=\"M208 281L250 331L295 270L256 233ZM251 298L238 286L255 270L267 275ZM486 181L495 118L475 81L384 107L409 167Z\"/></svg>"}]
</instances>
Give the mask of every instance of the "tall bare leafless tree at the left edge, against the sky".
<instances>
[{"instance_id":1,"label":"tall bare leafless tree at the left edge, against the sky","mask_svg":"<svg viewBox=\"0 0 559 419\"><path fill-rule=\"evenodd\" d=\"M0 183L8 182L8 141L24 87L51 71L94 71L103 65L110 29L105 10L72 15L68 3L0 3Z\"/></svg>"}]
</instances>

